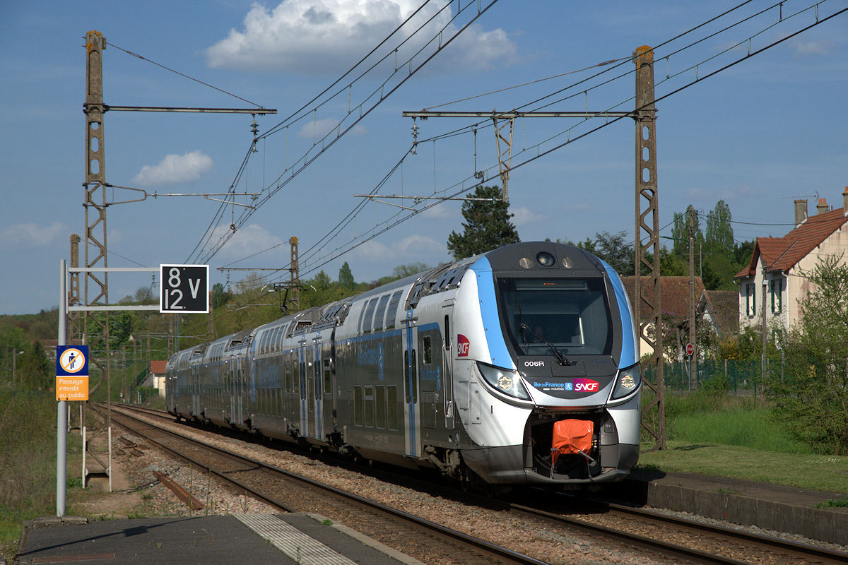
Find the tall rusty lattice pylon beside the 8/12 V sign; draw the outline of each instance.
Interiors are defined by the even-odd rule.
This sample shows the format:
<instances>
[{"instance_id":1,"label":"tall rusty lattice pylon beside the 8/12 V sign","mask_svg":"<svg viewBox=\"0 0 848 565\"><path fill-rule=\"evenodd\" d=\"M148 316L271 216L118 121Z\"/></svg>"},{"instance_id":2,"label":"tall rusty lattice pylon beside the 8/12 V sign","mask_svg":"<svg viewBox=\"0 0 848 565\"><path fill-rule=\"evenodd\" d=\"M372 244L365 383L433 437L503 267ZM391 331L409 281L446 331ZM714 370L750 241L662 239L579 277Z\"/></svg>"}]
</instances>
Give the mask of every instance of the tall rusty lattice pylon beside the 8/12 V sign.
<instances>
[{"instance_id":1,"label":"tall rusty lattice pylon beside the 8/12 V sign","mask_svg":"<svg viewBox=\"0 0 848 565\"><path fill-rule=\"evenodd\" d=\"M107 267L106 258L106 159L105 132L103 130L103 49L106 41L99 31L86 33L86 103L83 111L86 114L86 268ZM89 291L89 286L92 291ZM109 304L109 274L87 272L85 277L84 305L92 306L102 302ZM93 295L93 297L92 297ZM98 319L92 312L86 311L83 324L83 341L86 341L92 351L98 347L105 350L103 363L92 355L91 362L97 365L109 385L109 312L104 313L104 319ZM99 330L92 335L92 328ZM101 382L103 382L101 380ZM93 392L100 383L92 387Z\"/></svg>"}]
</instances>

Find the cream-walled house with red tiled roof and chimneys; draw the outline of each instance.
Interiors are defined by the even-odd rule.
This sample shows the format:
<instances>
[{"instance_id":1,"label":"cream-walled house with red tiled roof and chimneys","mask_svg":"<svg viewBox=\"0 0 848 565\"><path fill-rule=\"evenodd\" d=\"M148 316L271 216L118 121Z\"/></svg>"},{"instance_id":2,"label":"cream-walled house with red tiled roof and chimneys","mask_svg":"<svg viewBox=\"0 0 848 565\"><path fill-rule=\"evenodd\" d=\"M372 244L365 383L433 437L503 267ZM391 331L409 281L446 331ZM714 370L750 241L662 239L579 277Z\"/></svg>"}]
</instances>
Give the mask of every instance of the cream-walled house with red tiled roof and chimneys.
<instances>
[{"instance_id":1,"label":"cream-walled house with red tiled roof and chimneys","mask_svg":"<svg viewBox=\"0 0 848 565\"><path fill-rule=\"evenodd\" d=\"M734 276L739 285L739 329L784 330L801 317L801 301L815 285L806 279L821 258L845 255L848 264L848 186L843 208L831 209L820 198L807 217L807 201L795 200L795 229L783 237L758 237L750 263Z\"/></svg>"}]
</instances>

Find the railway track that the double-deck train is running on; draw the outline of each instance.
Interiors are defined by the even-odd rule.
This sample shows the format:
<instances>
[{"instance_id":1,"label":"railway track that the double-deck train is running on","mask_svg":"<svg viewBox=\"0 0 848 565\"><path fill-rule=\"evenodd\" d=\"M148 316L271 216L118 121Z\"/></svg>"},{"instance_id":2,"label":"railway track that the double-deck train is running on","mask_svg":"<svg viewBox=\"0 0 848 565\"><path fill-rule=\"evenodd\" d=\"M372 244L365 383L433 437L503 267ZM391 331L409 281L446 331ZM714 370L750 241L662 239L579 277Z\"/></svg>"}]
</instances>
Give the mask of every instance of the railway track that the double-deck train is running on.
<instances>
[{"instance_id":1,"label":"railway track that the double-deck train is running on","mask_svg":"<svg viewBox=\"0 0 848 565\"><path fill-rule=\"evenodd\" d=\"M142 409L143 410L143 409ZM163 412L143 410L150 415L171 419ZM677 518L644 509L625 507L606 501L577 501L573 497L551 497L543 492L538 496L532 490L522 491L525 500L493 501L469 495L460 490L446 489L396 474L377 473L381 479L412 486L418 490L468 501L484 507L500 505L510 518L519 518L539 528L551 526L570 532L580 532L592 539L602 538L617 546L630 546L662 560L695 563L753 563L779 565L783 563L831 563L848 562L848 554L830 551L815 546L806 546L787 540L755 535L739 529L723 528L684 518ZM413 484L414 483L414 484ZM331 487L332 488L332 487ZM527 496L530 499L527 500ZM563 513L568 507L572 512ZM323 511L321 511L323 513ZM385 541L384 541L385 543ZM387 544L391 545L391 544ZM532 561L538 562L538 561Z\"/></svg>"}]
</instances>

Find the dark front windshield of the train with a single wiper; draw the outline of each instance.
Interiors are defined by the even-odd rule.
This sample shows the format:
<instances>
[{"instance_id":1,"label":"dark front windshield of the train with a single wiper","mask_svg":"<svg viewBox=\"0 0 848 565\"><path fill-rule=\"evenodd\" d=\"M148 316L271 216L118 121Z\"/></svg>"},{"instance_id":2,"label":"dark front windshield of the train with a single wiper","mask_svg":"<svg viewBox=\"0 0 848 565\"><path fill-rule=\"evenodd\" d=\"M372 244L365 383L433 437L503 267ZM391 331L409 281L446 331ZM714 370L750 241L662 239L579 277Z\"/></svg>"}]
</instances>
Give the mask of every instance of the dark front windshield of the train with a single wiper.
<instances>
[{"instance_id":1,"label":"dark front windshield of the train with a single wiper","mask_svg":"<svg viewBox=\"0 0 848 565\"><path fill-rule=\"evenodd\" d=\"M499 279L501 315L519 355L609 355L602 278Z\"/></svg>"}]
</instances>

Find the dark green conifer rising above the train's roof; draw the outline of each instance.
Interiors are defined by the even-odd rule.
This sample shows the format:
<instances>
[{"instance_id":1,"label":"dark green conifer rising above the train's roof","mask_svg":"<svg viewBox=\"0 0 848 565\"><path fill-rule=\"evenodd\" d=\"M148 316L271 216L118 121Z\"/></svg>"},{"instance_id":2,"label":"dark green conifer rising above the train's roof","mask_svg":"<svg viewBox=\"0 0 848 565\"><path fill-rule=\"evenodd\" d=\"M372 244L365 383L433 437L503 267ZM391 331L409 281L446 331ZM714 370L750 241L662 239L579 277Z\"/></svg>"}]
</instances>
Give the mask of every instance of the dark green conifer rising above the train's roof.
<instances>
[{"instance_id":1,"label":"dark green conifer rising above the train's roof","mask_svg":"<svg viewBox=\"0 0 848 565\"><path fill-rule=\"evenodd\" d=\"M510 222L513 214L509 211L509 203L500 200L499 187L478 186L469 196L491 199L491 202L462 202L462 216L466 219L462 224L463 233L451 231L448 236L448 251L455 259L521 241L516 226Z\"/></svg>"}]
</instances>

